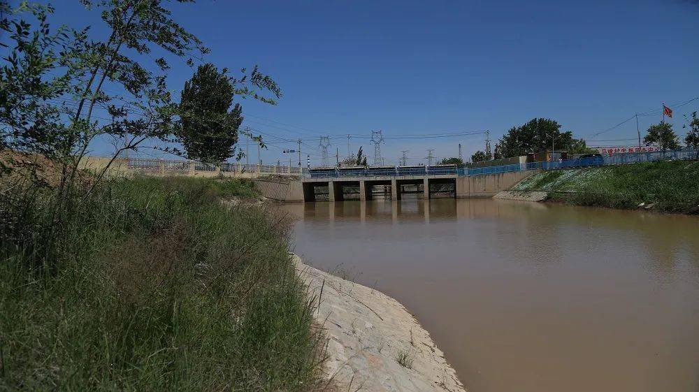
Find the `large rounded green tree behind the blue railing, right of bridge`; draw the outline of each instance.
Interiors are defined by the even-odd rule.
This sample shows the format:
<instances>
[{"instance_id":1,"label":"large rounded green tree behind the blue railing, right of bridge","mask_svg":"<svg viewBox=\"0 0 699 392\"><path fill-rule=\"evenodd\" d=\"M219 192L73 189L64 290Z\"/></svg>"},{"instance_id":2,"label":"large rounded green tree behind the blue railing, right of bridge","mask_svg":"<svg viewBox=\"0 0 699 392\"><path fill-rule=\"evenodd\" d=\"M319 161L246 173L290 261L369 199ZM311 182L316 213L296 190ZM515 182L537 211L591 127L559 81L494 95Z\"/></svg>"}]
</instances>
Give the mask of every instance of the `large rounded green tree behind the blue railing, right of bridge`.
<instances>
[{"instance_id":1,"label":"large rounded green tree behind the blue railing, right of bridge","mask_svg":"<svg viewBox=\"0 0 699 392\"><path fill-rule=\"evenodd\" d=\"M575 154L591 152L585 140L575 139L571 131L561 132L561 124L553 119L535 118L524 125L513 126L496 145L496 156L519 157L532 152L568 150Z\"/></svg>"}]
</instances>

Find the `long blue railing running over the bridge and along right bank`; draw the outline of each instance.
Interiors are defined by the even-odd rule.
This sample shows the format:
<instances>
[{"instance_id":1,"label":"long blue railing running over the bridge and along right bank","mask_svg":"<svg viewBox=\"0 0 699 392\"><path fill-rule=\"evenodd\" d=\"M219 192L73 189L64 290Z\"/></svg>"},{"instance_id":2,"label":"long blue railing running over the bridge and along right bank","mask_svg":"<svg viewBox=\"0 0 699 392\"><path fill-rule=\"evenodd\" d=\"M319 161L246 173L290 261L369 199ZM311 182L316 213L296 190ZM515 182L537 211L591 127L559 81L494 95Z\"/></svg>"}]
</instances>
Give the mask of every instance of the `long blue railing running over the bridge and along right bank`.
<instances>
[{"instance_id":1,"label":"long blue railing running over the bridge and along right bank","mask_svg":"<svg viewBox=\"0 0 699 392\"><path fill-rule=\"evenodd\" d=\"M650 161L675 161L699 159L699 150L654 151L654 152L630 152L626 154L612 154L601 157L589 157L578 159L566 159L563 161L530 162L527 164L511 164L500 166L485 166L480 168L452 168L439 166L401 167L397 168L327 168L316 170L304 170L306 177L373 177L391 176L401 177L405 175L485 175L496 173L510 173L524 170L556 170L564 168L582 168L591 166L608 166L622 164L637 164Z\"/></svg>"}]
</instances>

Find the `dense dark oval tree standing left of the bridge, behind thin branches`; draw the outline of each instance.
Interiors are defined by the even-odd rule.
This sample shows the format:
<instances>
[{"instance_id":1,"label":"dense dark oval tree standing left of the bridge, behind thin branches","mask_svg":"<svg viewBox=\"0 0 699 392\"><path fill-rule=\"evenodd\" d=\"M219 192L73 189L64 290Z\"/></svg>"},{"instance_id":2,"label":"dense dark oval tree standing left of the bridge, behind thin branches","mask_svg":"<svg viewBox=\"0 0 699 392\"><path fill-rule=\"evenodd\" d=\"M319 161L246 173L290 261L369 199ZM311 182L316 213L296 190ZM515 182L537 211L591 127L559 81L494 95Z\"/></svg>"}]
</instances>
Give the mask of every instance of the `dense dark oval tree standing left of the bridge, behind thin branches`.
<instances>
[{"instance_id":1,"label":"dense dark oval tree standing left of the bridge, behind thin branches","mask_svg":"<svg viewBox=\"0 0 699 392\"><path fill-rule=\"evenodd\" d=\"M189 159L218 164L235 152L243 108L236 103L229 111L233 85L227 72L226 68L219 72L213 64L204 64L185 82L178 137Z\"/></svg>"}]
</instances>

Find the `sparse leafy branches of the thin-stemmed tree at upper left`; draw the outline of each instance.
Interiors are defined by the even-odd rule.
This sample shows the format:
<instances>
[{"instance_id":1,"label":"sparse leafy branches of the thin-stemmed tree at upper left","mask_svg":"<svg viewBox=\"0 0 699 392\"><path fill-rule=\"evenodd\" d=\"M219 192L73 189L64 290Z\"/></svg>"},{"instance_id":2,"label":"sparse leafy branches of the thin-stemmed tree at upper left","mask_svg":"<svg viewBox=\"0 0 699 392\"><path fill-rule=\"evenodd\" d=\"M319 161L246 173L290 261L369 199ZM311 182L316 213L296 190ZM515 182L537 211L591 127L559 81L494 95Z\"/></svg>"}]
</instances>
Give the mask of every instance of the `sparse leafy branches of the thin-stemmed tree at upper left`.
<instances>
[{"instance_id":1,"label":"sparse leafy branches of the thin-stemmed tree at upper left","mask_svg":"<svg viewBox=\"0 0 699 392\"><path fill-rule=\"evenodd\" d=\"M208 50L172 19L167 6L174 1L82 0L100 11L108 27L105 38L94 38L89 29L60 27L52 32L51 6L22 2L10 10L2 2L6 16L0 28L8 34L10 55L0 68L0 152L38 153L59 162L61 188L67 194L94 140L113 141L112 161L146 140L179 143L175 130L180 128L180 108L166 85L168 61L144 59L153 58L154 50L175 59ZM187 64L194 62L189 58ZM233 94L272 104L280 97L274 80L257 66L241 72L243 76L231 80ZM263 90L273 97L264 96ZM179 153L171 147L162 150Z\"/></svg>"}]
</instances>

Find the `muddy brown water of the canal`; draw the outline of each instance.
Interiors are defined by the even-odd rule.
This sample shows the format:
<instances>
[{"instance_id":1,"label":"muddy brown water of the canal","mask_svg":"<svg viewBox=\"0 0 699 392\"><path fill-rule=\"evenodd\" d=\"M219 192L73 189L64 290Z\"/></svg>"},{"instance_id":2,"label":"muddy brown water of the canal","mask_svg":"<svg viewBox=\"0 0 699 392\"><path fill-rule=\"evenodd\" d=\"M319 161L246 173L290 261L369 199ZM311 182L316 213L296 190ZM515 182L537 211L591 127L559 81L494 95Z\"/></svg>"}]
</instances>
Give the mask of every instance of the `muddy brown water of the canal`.
<instances>
[{"instance_id":1,"label":"muddy brown water of the canal","mask_svg":"<svg viewBox=\"0 0 699 392\"><path fill-rule=\"evenodd\" d=\"M305 203L296 252L388 293L470 392L699 391L699 218L496 200Z\"/></svg>"}]
</instances>

